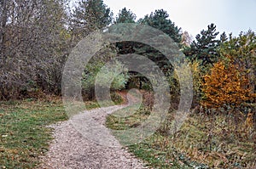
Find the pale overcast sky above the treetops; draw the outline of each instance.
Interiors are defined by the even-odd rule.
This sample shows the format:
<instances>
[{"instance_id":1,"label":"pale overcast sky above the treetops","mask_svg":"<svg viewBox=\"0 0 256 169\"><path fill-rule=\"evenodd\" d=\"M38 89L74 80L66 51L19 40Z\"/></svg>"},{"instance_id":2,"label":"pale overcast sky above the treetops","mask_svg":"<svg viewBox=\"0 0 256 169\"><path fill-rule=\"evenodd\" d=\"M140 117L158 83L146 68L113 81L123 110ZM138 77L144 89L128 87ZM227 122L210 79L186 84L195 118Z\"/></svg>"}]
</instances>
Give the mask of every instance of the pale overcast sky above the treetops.
<instances>
[{"instance_id":1,"label":"pale overcast sky above the treetops","mask_svg":"<svg viewBox=\"0 0 256 169\"><path fill-rule=\"evenodd\" d=\"M240 31L256 31L256 0L104 0L104 3L114 16L126 7L137 19L163 8L175 25L193 37L211 23L217 25L217 31L233 32L235 36Z\"/></svg>"}]
</instances>

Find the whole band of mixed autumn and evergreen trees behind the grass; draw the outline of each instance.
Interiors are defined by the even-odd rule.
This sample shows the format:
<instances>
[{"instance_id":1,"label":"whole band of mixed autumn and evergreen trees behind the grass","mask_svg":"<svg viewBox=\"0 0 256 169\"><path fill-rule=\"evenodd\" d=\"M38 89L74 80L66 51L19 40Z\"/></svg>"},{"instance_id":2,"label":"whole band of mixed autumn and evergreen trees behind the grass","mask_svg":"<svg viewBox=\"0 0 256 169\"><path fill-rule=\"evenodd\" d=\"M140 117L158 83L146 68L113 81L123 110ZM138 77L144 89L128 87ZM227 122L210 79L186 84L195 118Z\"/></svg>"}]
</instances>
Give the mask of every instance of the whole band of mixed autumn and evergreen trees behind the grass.
<instances>
[{"instance_id":1,"label":"whole band of mixed autumn and evergreen trees behind the grass","mask_svg":"<svg viewBox=\"0 0 256 169\"><path fill-rule=\"evenodd\" d=\"M138 23L164 31L182 49L193 70L194 107L255 112L256 35L253 31L241 32L238 37L227 36L225 32L219 35L216 25L211 24L193 41L163 9L136 20L136 14L126 8L113 17L102 0L81 0L75 8L70 8L70 3L67 0L1 1L0 99L20 99L38 93L61 94L61 71L77 42L108 25ZM168 77L172 97L178 97L175 70L159 51L137 42L119 42L102 49L84 67L83 87L88 99L94 98L96 72L116 54L143 54L152 59ZM150 90L150 82L136 72L120 75L118 79L115 89L129 87L132 82Z\"/></svg>"}]
</instances>

